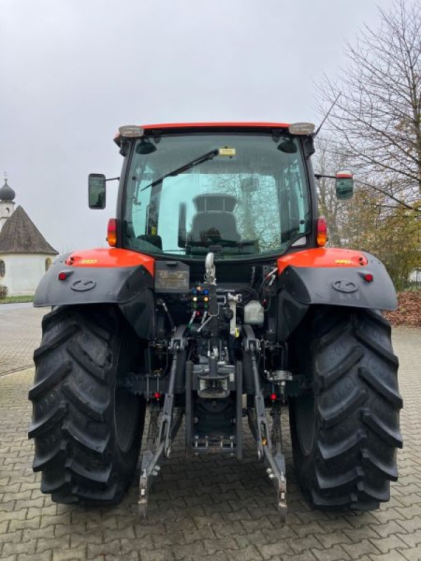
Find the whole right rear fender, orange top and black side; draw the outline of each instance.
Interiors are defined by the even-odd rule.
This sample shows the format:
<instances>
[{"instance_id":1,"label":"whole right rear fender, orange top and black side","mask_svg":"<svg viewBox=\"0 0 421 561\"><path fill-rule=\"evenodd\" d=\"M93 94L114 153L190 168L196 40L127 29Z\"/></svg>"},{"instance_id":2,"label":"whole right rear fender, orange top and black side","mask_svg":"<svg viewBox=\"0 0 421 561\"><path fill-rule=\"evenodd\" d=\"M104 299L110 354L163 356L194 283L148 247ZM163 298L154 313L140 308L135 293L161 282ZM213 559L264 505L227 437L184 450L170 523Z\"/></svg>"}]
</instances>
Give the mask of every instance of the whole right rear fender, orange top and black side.
<instances>
[{"instance_id":1,"label":"whole right rear fender, orange top and black side","mask_svg":"<svg viewBox=\"0 0 421 561\"><path fill-rule=\"evenodd\" d=\"M373 255L354 250L318 248L280 257L278 265L278 337L285 341L309 306L396 310L394 285ZM372 275L373 280L366 280Z\"/></svg>"}]
</instances>

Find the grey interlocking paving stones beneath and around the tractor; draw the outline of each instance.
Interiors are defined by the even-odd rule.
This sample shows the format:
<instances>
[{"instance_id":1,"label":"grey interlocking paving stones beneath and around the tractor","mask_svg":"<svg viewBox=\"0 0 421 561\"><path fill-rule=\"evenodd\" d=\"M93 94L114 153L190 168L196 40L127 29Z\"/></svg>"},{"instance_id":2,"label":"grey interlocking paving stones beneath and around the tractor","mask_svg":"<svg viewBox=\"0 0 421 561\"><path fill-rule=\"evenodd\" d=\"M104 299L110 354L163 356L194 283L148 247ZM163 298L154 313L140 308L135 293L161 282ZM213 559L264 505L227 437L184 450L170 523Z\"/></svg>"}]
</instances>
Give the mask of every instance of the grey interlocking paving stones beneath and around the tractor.
<instances>
[{"instance_id":1,"label":"grey interlocking paving stones beneath and around the tractor","mask_svg":"<svg viewBox=\"0 0 421 561\"><path fill-rule=\"evenodd\" d=\"M33 370L2 377L0 559L420 560L421 330L396 329L394 344L401 360L404 447L391 501L359 515L312 510L295 481L286 431L289 513L283 527L250 437L242 461L187 461L179 441L154 482L147 520L136 514L135 482L118 507L55 505L39 491L39 475L31 468L27 391Z\"/></svg>"}]
</instances>

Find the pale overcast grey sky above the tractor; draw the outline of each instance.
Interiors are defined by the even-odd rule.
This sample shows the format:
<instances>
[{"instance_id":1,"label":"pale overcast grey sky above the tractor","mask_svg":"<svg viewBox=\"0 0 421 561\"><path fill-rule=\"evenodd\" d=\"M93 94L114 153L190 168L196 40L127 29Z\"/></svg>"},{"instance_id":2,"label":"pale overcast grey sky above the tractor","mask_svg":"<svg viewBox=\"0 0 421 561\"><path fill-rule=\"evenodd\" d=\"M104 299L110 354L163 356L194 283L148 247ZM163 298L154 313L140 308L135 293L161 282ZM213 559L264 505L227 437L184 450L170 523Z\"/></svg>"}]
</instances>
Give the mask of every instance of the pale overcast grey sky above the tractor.
<instances>
[{"instance_id":1,"label":"pale overcast grey sky above the tractor","mask_svg":"<svg viewBox=\"0 0 421 561\"><path fill-rule=\"evenodd\" d=\"M89 173L118 176L124 124L319 123L345 41L393 0L0 0L0 185L58 250L105 246Z\"/></svg>"}]
</instances>

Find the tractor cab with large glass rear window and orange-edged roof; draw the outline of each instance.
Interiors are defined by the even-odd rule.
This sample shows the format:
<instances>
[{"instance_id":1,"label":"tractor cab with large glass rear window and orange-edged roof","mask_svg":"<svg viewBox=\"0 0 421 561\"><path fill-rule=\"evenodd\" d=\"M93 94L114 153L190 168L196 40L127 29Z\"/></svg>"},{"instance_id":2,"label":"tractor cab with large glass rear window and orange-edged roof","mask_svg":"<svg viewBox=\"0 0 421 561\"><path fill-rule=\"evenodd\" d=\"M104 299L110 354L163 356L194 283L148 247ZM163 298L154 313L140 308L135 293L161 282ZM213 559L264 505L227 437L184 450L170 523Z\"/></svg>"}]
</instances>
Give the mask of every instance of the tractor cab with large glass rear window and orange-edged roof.
<instances>
[{"instance_id":1,"label":"tractor cab with large glass rear window and orange-edged roof","mask_svg":"<svg viewBox=\"0 0 421 561\"><path fill-rule=\"evenodd\" d=\"M300 125L121 127L119 247L187 261L311 247L313 126Z\"/></svg>"}]
</instances>

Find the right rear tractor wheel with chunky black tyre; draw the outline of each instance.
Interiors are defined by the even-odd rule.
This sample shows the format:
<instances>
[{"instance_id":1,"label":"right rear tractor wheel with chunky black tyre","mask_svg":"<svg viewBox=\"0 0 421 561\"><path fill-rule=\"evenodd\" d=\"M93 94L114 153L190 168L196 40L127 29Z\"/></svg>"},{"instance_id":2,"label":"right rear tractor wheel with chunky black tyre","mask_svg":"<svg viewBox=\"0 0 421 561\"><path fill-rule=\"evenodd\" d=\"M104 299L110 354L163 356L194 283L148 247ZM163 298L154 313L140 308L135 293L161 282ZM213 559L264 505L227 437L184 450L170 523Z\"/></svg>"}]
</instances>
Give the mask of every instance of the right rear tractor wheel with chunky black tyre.
<instances>
[{"instance_id":1,"label":"right rear tractor wheel with chunky black tyre","mask_svg":"<svg viewBox=\"0 0 421 561\"><path fill-rule=\"evenodd\" d=\"M390 325L377 311L320 309L310 362L314 391L290 403L300 485L321 508L378 508L402 447Z\"/></svg>"}]
</instances>

